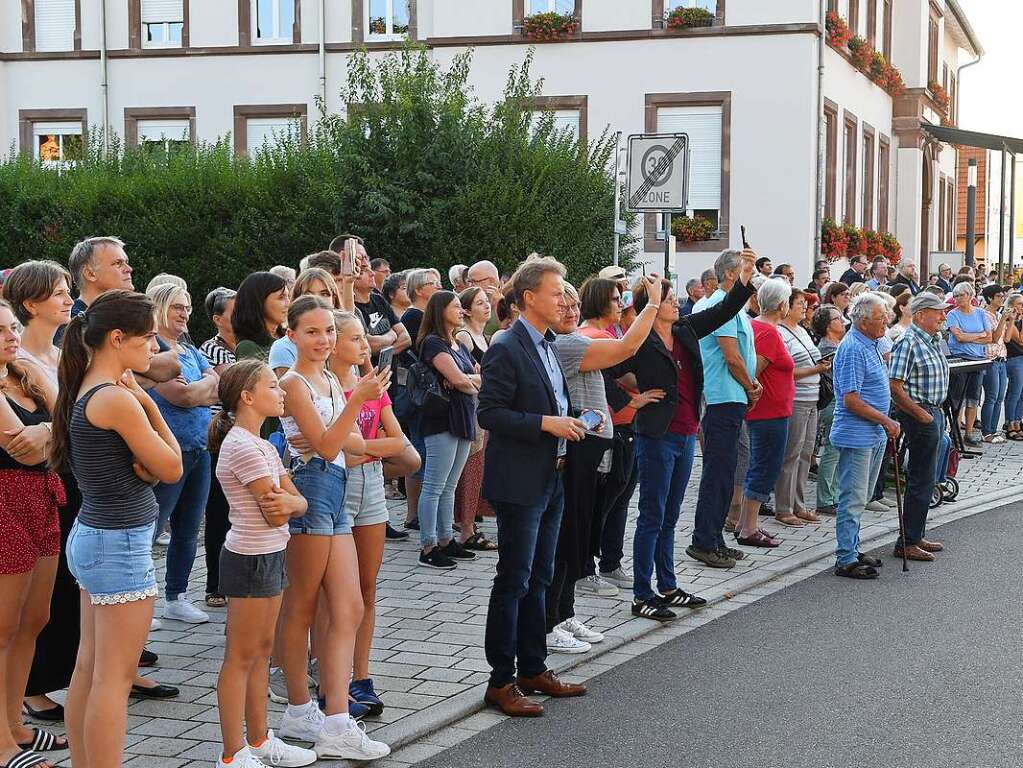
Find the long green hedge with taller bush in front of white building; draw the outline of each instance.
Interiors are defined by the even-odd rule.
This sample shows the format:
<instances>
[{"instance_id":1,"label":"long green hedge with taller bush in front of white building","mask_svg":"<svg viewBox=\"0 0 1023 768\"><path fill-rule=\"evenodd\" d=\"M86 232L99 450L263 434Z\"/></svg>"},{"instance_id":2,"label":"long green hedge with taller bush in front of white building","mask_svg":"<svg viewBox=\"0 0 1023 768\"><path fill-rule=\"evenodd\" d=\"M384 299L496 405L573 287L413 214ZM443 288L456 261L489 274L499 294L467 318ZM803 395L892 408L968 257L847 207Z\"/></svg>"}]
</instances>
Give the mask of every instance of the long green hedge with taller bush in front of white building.
<instances>
[{"instance_id":1,"label":"long green hedge with taller bush in front of white building","mask_svg":"<svg viewBox=\"0 0 1023 768\"><path fill-rule=\"evenodd\" d=\"M472 94L472 51L446 70L414 47L354 54L342 103L371 106L350 120L321 108L305 142L253 159L234 157L229 138L170 156L114 139L104 156L96 131L87 159L59 174L11 155L0 163L0 266L65 262L82 237L115 234L136 287L179 274L198 306L212 287L297 267L351 231L394 269L490 259L509 271L538 251L579 280L611 263L615 140L606 131L580 147L549 115L531 128L524 107L542 87L531 62L532 51L493 106ZM622 238L623 262L635 249Z\"/></svg>"}]
</instances>

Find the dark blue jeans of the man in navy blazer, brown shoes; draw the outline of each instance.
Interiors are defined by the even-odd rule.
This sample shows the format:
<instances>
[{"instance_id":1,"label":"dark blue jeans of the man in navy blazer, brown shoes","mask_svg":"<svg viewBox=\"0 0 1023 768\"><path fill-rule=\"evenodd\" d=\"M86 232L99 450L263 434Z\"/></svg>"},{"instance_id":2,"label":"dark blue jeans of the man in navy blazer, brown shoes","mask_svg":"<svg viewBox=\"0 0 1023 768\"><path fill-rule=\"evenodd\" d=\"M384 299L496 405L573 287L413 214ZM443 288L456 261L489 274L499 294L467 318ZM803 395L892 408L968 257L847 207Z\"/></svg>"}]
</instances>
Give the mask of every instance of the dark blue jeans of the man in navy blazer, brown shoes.
<instances>
[{"instance_id":1,"label":"dark blue jeans of the man in navy blazer, brown shoes","mask_svg":"<svg viewBox=\"0 0 1023 768\"><path fill-rule=\"evenodd\" d=\"M553 579L565 485L554 472L534 504L490 499L497 517L497 573L487 608L484 647L498 687L547 669L544 596ZM518 661L518 665L517 665Z\"/></svg>"}]
</instances>

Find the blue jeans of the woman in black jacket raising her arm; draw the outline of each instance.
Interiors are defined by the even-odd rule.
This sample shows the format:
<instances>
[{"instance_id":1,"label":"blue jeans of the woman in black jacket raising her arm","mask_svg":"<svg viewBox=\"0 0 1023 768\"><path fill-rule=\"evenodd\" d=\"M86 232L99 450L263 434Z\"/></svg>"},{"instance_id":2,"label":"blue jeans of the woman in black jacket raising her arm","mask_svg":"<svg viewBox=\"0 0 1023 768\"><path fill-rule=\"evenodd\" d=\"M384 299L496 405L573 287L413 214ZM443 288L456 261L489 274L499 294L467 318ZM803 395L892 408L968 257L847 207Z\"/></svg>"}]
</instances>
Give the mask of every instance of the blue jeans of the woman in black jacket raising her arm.
<instances>
[{"instance_id":1,"label":"blue jeans of the woman in black jacket raising her arm","mask_svg":"<svg viewBox=\"0 0 1023 768\"><path fill-rule=\"evenodd\" d=\"M639 519L632 540L632 592L637 600L650 600L656 595L651 584L655 568L661 594L678 588L675 524L693 471L696 445L696 435L669 432L660 440L636 437Z\"/></svg>"}]
</instances>

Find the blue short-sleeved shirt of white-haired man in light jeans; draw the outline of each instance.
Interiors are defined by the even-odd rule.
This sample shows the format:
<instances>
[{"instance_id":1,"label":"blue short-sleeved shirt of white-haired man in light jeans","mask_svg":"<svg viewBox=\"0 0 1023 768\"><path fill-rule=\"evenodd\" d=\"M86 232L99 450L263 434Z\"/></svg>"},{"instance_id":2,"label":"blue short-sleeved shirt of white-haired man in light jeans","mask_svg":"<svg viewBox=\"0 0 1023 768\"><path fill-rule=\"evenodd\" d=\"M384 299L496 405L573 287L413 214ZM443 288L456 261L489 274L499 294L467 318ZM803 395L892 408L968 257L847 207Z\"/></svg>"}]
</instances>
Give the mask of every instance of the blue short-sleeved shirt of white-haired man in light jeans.
<instances>
[{"instance_id":1,"label":"blue short-sleeved shirt of white-haired man in light jeans","mask_svg":"<svg viewBox=\"0 0 1023 768\"><path fill-rule=\"evenodd\" d=\"M838 347L832 371L835 388L832 445L836 448L873 448L885 439L884 427L846 408L845 396L855 392L866 405L888 415L891 390L880 344L852 328Z\"/></svg>"}]
</instances>

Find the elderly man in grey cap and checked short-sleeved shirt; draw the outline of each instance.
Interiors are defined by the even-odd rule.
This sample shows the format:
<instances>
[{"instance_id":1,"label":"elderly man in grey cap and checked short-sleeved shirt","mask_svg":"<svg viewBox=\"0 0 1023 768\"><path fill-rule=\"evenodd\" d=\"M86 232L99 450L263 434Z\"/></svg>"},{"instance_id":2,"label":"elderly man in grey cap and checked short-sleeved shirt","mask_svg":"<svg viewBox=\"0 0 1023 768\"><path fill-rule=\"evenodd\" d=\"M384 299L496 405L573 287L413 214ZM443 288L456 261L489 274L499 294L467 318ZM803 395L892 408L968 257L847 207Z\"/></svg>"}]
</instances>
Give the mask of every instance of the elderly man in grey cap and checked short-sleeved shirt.
<instances>
[{"instance_id":1,"label":"elderly man in grey cap and checked short-sleeved shirt","mask_svg":"<svg viewBox=\"0 0 1023 768\"><path fill-rule=\"evenodd\" d=\"M938 446L945 430L941 406L948 396L948 361L941 353L945 303L921 292L913 298L913 325L892 351L892 400L909 452L903 502L904 528L895 556L930 561L944 547L924 538L937 470Z\"/></svg>"}]
</instances>

